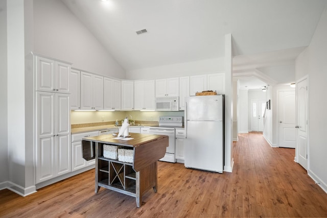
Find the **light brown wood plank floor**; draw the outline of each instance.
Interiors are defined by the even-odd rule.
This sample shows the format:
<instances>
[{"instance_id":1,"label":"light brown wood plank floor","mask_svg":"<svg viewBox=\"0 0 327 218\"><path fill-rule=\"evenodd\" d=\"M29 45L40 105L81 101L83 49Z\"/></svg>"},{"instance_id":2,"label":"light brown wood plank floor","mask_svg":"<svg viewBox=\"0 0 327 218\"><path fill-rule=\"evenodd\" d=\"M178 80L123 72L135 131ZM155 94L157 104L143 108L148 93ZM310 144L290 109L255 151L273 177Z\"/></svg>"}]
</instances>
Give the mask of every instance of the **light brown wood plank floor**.
<instances>
[{"instance_id":1,"label":"light brown wood plank floor","mask_svg":"<svg viewBox=\"0 0 327 218\"><path fill-rule=\"evenodd\" d=\"M327 194L295 163L294 149L271 148L261 133L240 134L232 173L158 163L158 192L135 199L101 188L94 170L28 197L0 191L0 217L327 217Z\"/></svg>"}]
</instances>

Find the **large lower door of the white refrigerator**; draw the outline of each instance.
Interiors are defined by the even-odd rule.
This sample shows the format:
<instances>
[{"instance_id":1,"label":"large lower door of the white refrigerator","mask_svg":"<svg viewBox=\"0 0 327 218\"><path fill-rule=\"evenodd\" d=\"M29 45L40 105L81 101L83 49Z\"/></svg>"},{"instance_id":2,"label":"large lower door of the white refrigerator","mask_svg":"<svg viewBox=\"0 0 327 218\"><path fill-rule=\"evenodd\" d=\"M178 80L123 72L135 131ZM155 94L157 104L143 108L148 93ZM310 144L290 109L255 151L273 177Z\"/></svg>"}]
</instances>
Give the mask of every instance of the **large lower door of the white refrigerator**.
<instances>
[{"instance_id":1,"label":"large lower door of the white refrigerator","mask_svg":"<svg viewBox=\"0 0 327 218\"><path fill-rule=\"evenodd\" d=\"M185 167L223 172L223 123L219 121L187 121Z\"/></svg>"}]
</instances>

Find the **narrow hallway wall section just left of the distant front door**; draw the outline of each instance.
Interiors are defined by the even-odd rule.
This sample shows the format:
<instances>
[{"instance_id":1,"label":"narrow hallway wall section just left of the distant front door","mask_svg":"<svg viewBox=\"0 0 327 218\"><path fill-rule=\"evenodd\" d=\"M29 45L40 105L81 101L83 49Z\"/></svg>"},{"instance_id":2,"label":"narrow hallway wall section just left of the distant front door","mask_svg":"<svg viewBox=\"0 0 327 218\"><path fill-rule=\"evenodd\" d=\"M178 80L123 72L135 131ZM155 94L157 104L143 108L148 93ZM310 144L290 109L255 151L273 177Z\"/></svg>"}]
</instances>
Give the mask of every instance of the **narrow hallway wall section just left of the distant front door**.
<instances>
[{"instance_id":1,"label":"narrow hallway wall section just left of the distant front door","mask_svg":"<svg viewBox=\"0 0 327 218\"><path fill-rule=\"evenodd\" d=\"M248 133L248 90L239 89L239 133Z\"/></svg>"}]
</instances>

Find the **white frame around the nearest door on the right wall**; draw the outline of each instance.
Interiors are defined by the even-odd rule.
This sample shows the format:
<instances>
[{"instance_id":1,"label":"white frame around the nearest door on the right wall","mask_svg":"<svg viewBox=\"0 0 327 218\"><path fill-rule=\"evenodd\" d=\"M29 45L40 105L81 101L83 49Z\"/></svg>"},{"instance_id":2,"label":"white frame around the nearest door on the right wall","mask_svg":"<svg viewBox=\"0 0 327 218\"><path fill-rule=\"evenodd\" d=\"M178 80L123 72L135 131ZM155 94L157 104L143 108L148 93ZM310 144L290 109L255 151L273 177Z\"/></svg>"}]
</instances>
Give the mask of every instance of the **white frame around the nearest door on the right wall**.
<instances>
[{"instance_id":1,"label":"white frame around the nearest door on the right wall","mask_svg":"<svg viewBox=\"0 0 327 218\"><path fill-rule=\"evenodd\" d=\"M308 77L308 75L307 76L305 76L305 77L302 77L301 79L299 79L299 80L297 80L295 83L296 83L296 87L297 87L297 84L299 83L299 82L302 82L303 80L307 80L307 89L308 89L308 91L309 91L309 77ZM296 125L298 125L297 124L297 121L298 121L298 110L297 110L297 102L298 101L298 96L297 96L297 88L295 88L295 104L296 104L296 108L295 108L295 118L296 118ZM309 110L310 110L310 107L309 107L309 93L307 93L307 102L306 102L307 104L307 122L308 122L308 124L309 124ZM309 161L309 159L310 159L310 155L309 155L309 147L310 147L310 144L309 144L309 132L310 132L310 129L309 129L309 125L307 124L307 169L306 169L306 171L308 172L308 170L309 170L309 168L310 168L310 161ZM297 133L297 131L298 130L296 130L296 137L298 136L298 133ZM294 161L296 162L296 163L299 163L298 162L298 156L299 156L299 150L298 150L298 143L297 143L298 141L296 140L296 144L295 144L295 157L294 157ZM300 164L301 165L301 164Z\"/></svg>"}]
</instances>

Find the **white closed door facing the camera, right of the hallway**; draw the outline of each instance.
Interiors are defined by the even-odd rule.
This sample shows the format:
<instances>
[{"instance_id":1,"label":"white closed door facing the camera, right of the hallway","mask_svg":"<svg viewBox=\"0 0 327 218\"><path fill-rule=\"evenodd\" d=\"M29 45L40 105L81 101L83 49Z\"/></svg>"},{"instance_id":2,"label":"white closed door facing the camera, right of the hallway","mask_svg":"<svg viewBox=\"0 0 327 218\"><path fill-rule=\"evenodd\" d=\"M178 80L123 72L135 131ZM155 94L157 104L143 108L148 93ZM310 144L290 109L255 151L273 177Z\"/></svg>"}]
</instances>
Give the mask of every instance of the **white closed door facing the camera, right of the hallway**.
<instances>
[{"instance_id":1,"label":"white closed door facing the camera, right of the hallway","mask_svg":"<svg viewBox=\"0 0 327 218\"><path fill-rule=\"evenodd\" d=\"M278 146L295 148L295 91L278 92Z\"/></svg>"}]
</instances>

